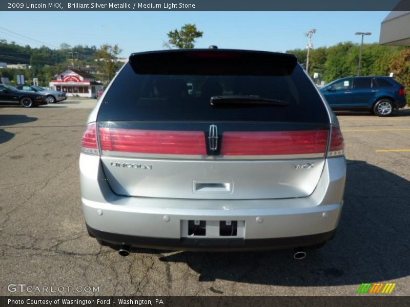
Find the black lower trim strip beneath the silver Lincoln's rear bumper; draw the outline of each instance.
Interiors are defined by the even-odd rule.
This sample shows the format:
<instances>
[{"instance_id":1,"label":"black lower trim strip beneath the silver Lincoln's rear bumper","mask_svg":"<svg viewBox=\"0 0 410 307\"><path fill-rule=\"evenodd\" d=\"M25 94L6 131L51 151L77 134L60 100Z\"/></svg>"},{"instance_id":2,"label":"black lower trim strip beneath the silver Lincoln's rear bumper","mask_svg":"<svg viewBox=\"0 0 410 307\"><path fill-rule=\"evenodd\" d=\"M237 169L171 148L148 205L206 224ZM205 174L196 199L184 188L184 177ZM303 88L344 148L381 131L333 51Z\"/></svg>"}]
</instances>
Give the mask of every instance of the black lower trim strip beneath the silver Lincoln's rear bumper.
<instances>
[{"instance_id":1,"label":"black lower trim strip beneath the silver Lincoln's rear bumper","mask_svg":"<svg viewBox=\"0 0 410 307\"><path fill-rule=\"evenodd\" d=\"M336 229L304 236L268 238L268 239L241 239L241 238L155 238L126 234L109 233L91 228L87 225L90 236L103 240L111 245L129 245L163 250L186 251L235 251L235 250L273 250L291 249L296 247L314 247L325 243L335 236Z\"/></svg>"}]
</instances>

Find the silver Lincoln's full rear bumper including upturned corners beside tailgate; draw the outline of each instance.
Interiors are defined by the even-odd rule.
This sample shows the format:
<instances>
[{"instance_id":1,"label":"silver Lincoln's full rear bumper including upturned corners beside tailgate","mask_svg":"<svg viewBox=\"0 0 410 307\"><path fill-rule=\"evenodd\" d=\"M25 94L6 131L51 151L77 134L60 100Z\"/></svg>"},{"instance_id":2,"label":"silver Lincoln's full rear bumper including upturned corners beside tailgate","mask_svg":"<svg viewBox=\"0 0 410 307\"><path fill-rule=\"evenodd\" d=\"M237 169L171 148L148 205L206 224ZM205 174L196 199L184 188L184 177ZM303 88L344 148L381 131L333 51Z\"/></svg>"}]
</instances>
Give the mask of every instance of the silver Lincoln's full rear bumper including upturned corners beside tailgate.
<instances>
[{"instance_id":1,"label":"silver Lincoln's full rear bumper including upturned corners beside tailgate","mask_svg":"<svg viewBox=\"0 0 410 307\"><path fill-rule=\"evenodd\" d=\"M81 153L79 164L86 224L93 236L114 244L208 250L220 250L221 244L233 249L310 246L333 236L343 206L344 157L326 159L310 196L261 200L120 196L108 185L98 156ZM183 238L182 225L192 220L243 221L243 237Z\"/></svg>"}]
</instances>

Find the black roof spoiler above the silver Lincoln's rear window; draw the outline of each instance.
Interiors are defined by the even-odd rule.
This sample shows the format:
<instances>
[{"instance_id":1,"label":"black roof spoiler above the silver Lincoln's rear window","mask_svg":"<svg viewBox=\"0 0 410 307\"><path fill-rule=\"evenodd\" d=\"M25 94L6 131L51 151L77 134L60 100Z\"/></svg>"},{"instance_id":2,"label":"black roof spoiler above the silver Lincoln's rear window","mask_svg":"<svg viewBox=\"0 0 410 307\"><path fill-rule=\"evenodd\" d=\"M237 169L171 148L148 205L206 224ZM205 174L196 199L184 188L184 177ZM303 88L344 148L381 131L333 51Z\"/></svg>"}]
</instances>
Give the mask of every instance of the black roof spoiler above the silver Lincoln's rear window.
<instances>
[{"instance_id":1,"label":"black roof spoiler above the silver Lincoln's rear window","mask_svg":"<svg viewBox=\"0 0 410 307\"><path fill-rule=\"evenodd\" d=\"M229 50L182 49L133 53L136 74L287 76L296 65L292 54Z\"/></svg>"}]
</instances>

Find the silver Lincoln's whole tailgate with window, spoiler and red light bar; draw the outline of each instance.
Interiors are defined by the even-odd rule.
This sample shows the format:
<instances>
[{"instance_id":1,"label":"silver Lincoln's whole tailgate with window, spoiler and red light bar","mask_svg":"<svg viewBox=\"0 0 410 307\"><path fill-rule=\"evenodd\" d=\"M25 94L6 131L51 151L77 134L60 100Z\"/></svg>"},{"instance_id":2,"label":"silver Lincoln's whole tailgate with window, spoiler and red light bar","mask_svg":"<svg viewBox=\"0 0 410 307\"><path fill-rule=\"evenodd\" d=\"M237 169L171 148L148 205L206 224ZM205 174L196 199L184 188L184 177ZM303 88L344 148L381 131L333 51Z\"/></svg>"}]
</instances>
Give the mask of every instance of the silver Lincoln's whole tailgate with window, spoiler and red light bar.
<instances>
[{"instance_id":1,"label":"silver Lincoln's whole tailgate with window, spoiler and red light bar","mask_svg":"<svg viewBox=\"0 0 410 307\"><path fill-rule=\"evenodd\" d=\"M295 59L206 50L130 60L97 118L101 162L114 192L176 199L282 199L313 192L330 120ZM212 96L223 95L289 104L210 104Z\"/></svg>"}]
</instances>

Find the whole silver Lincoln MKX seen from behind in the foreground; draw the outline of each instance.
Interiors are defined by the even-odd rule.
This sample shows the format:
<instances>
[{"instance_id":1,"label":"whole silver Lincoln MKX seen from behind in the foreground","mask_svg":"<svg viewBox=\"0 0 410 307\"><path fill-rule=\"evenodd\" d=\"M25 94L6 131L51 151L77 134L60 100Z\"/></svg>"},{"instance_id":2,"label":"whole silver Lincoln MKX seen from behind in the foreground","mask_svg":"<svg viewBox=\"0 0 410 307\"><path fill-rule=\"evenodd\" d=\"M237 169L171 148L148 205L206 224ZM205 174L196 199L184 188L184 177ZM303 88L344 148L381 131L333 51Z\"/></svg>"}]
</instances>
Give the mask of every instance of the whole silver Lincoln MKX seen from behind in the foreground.
<instances>
[{"instance_id":1,"label":"whole silver Lincoln MKX seen from behind in the foreground","mask_svg":"<svg viewBox=\"0 0 410 307\"><path fill-rule=\"evenodd\" d=\"M88 118L79 168L88 232L121 255L303 258L335 235L346 174L337 118L295 56L218 49L132 54Z\"/></svg>"}]
</instances>

